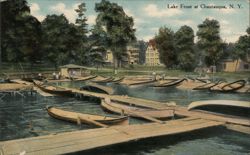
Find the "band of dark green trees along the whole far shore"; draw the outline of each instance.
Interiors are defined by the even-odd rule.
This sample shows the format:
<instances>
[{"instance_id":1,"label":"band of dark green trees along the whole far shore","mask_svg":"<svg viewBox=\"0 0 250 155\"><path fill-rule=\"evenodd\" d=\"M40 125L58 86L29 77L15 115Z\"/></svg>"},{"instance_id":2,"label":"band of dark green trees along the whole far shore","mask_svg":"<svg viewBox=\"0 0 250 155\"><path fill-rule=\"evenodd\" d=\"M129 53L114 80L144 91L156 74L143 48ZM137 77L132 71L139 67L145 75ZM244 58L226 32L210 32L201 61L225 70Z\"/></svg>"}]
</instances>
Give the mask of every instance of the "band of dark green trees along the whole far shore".
<instances>
[{"instance_id":1,"label":"band of dark green trees along the whole far shore","mask_svg":"<svg viewBox=\"0 0 250 155\"><path fill-rule=\"evenodd\" d=\"M85 3L75 10L78 14L75 23L70 23L64 14L47 15L43 21L38 21L30 14L26 0L6 0L1 6L0 68L2 62L15 62L16 67L30 63L32 70L38 71L38 62L55 69L68 63L103 66L107 50L112 51L114 68L120 68L128 57L127 45L137 41L133 17L128 16L122 6L108 0L95 4L97 18L91 28L86 22ZM236 43L222 40L217 20L204 19L197 27L196 34L188 25L176 32L166 26L159 28L152 39L156 41L165 70L193 71L197 66L217 66L225 58L249 61L249 27L246 35L240 36Z\"/></svg>"}]
</instances>

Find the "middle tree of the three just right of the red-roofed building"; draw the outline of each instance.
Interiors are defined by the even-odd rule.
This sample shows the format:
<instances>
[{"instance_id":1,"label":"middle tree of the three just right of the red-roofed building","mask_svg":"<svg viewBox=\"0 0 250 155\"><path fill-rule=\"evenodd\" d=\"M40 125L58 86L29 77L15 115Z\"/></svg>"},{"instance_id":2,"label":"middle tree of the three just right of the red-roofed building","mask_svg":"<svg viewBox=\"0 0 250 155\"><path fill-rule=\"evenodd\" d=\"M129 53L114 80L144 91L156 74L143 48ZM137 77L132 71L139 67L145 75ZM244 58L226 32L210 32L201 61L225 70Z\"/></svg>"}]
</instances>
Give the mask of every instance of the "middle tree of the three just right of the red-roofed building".
<instances>
[{"instance_id":1,"label":"middle tree of the three just right of the red-roofed building","mask_svg":"<svg viewBox=\"0 0 250 155\"><path fill-rule=\"evenodd\" d=\"M180 68L192 71L196 65L193 29L186 25L182 26L174 35L174 45Z\"/></svg>"}]
</instances>

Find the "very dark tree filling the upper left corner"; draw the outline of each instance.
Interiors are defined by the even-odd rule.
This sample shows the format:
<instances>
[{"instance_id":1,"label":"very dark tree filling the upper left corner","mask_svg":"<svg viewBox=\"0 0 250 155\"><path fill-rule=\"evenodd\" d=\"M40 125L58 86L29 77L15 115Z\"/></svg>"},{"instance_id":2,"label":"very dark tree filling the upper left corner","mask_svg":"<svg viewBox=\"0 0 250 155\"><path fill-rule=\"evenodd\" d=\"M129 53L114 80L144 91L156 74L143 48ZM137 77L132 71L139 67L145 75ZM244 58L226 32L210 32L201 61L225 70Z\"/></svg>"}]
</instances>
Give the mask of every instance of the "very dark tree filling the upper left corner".
<instances>
[{"instance_id":1,"label":"very dark tree filling the upper left corner","mask_svg":"<svg viewBox=\"0 0 250 155\"><path fill-rule=\"evenodd\" d=\"M40 58L40 22L30 15L26 0L1 2L1 56L5 61Z\"/></svg>"}]
</instances>

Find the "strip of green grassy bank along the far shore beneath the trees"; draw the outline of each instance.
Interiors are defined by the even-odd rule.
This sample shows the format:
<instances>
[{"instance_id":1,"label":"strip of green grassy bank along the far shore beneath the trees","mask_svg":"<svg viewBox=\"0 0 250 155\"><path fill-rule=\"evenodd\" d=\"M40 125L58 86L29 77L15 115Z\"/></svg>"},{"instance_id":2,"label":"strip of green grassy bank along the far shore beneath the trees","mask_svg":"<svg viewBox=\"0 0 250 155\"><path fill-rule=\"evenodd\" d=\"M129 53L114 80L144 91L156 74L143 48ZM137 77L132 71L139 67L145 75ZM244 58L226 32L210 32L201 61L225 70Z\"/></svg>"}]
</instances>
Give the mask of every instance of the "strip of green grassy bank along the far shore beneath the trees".
<instances>
[{"instance_id":1,"label":"strip of green grassy bank along the far shore beneath the trees","mask_svg":"<svg viewBox=\"0 0 250 155\"><path fill-rule=\"evenodd\" d=\"M111 66L105 68L89 67L92 74L102 75L102 76L136 76L136 75L152 75L153 72L156 72L158 75L165 74L166 76L174 77L196 77L199 74L195 72L185 72L181 70L168 70L163 66L148 67L144 65L134 65L133 67L119 68L117 74L114 74L114 69ZM59 71L55 69L54 66L49 64L30 64L25 63L3 63L0 67L0 76L1 73L13 74L13 73L32 73L32 72L54 72ZM237 79L247 79L250 77L250 72L217 72L215 74L207 74L209 77L237 80Z\"/></svg>"}]
</instances>

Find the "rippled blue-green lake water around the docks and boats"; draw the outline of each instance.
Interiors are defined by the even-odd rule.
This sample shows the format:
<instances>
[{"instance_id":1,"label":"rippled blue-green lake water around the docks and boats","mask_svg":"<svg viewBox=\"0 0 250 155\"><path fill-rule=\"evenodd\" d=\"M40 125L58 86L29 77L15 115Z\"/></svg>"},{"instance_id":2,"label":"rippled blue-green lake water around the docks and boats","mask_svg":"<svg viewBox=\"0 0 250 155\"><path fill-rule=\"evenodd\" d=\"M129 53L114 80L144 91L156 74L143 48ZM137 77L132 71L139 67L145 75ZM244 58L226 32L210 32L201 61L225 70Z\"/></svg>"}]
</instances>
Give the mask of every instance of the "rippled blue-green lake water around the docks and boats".
<instances>
[{"instance_id":1,"label":"rippled blue-green lake water around the docks and boats","mask_svg":"<svg viewBox=\"0 0 250 155\"><path fill-rule=\"evenodd\" d=\"M59 85L79 88L82 82L65 82ZM128 88L111 84L116 94L146 98L157 101L175 101L187 106L192 101L207 99L232 99L250 101L249 94L223 94L201 91L179 90L176 88L155 89L152 87ZM104 112L96 99L77 99L66 97L42 97L40 95L22 97L4 97L0 100L0 141L47 135L66 131L85 130L93 127L78 126L51 118L46 105L62 109L108 114ZM111 115L111 114L108 114ZM131 123L144 123L142 120L130 119ZM104 155L200 155L200 154L249 154L250 135L237 133L223 127L205 129L188 134L153 138L115 145L95 151L79 154Z\"/></svg>"}]
</instances>

